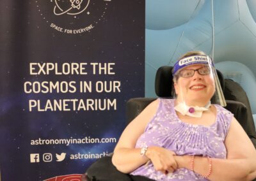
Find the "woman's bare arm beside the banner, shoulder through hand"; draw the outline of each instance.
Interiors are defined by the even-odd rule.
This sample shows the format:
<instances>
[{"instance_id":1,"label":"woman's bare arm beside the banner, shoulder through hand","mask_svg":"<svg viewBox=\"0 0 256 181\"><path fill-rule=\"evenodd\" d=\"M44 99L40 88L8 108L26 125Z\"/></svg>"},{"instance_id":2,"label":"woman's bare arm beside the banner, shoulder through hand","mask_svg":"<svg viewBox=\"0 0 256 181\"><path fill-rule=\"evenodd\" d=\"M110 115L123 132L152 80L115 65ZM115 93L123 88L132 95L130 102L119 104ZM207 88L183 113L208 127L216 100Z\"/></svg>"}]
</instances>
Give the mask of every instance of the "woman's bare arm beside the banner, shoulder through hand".
<instances>
[{"instance_id":1,"label":"woman's bare arm beside the banner, shoulder through hand","mask_svg":"<svg viewBox=\"0 0 256 181\"><path fill-rule=\"evenodd\" d=\"M136 141L144 132L148 122L156 114L158 105L159 100L148 105L125 128L112 157L112 163L116 166L117 170L123 173L131 173L131 171L147 163L149 160L157 171L162 171L163 173L173 172L177 169L177 163L174 159L175 153L166 148L148 147L145 156L141 156L141 148L134 148Z\"/></svg>"}]
</instances>

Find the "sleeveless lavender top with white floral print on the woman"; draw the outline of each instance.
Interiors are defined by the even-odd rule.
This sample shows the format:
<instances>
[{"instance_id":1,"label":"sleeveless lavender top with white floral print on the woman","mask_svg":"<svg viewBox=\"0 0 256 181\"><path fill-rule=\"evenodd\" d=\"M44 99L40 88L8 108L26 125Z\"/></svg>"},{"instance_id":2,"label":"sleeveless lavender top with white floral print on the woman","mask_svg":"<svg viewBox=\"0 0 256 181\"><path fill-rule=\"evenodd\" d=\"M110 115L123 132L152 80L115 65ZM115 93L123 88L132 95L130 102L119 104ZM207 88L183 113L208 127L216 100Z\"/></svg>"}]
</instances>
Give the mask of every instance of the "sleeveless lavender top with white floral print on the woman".
<instances>
[{"instance_id":1,"label":"sleeveless lavender top with white floral print on the woman","mask_svg":"<svg viewBox=\"0 0 256 181\"><path fill-rule=\"evenodd\" d=\"M182 122L177 116L174 101L175 99L159 99L156 115L138 138L136 148L143 145L159 146L172 150L179 156L227 158L224 141L234 115L220 105L214 105L217 115L211 126L189 124ZM156 171L152 163L140 166L132 171L131 175L143 175L153 180L207 180L186 168L164 175Z\"/></svg>"}]
</instances>

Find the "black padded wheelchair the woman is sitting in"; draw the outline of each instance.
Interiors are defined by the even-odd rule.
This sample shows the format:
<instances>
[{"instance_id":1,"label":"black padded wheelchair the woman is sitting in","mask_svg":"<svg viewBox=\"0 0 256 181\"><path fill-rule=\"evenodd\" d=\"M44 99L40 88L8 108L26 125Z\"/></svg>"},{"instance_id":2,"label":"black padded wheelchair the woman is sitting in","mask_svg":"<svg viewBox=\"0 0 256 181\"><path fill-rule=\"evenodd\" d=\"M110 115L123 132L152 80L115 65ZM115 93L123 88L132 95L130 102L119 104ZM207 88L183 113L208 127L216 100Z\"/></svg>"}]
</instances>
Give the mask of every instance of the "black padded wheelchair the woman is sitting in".
<instances>
[{"instance_id":1,"label":"black padded wheelchair the woman is sitting in","mask_svg":"<svg viewBox=\"0 0 256 181\"><path fill-rule=\"evenodd\" d=\"M252 140L256 148L256 133L252 118L250 103L242 87L232 80L224 79L220 71L217 71L221 87L227 101L227 110L234 113L234 117L239 121L241 126ZM163 66L157 70L155 82L156 94L161 98L172 98L172 67ZM127 101L127 124L131 122L148 104L156 98L132 98ZM212 102L214 103L214 101ZM121 173L116 170L111 163L111 157L103 157L96 161L86 171L88 180L102 181L149 181L145 177L134 177L132 175ZM254 180L255 181L255 180Z\"/></svg>"}]
</instances>

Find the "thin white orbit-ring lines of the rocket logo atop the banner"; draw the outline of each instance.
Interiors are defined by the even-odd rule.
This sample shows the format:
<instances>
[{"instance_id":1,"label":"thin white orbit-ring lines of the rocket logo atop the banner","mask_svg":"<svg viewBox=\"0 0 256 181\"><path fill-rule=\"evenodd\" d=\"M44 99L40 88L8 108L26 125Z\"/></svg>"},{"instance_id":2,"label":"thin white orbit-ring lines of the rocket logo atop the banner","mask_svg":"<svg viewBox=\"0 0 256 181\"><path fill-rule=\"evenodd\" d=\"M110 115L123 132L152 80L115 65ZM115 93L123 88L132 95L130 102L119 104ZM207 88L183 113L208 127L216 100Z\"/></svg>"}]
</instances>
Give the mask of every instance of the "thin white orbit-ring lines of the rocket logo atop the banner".
<instances>
[{"instance_id":1,"label":"thin white orbit-ring lines of the rocket logo atop the banner","mask_svg":"<svg viewBox=\"0 0 256 181\"><path fill-rule=\"evenodd\" d=\"M68 10L63 10L61 7L60 7L60 4L58 4L58 1L60 0L55 0L55 6L54 6L54 10L53 10L53 13L54 15L63 15L63 14L68 14L68 15L78 15L80 13L83 13L83 11L86 10L86 8L88 7L89 3L90 3L90 0L69 0L69 2L71 3L70 4L70 8L68 8ZM84 3L85 4L85 7L83 8L83 10L81 11L78 11L76 13L69 13L69 11L71 10L80 10L81 9L81 4L83 3L83 1L87 1L87 3ZM56 12L56 8L60 11L60 13L57 13Z\"/></svg>"}]
</instances>

